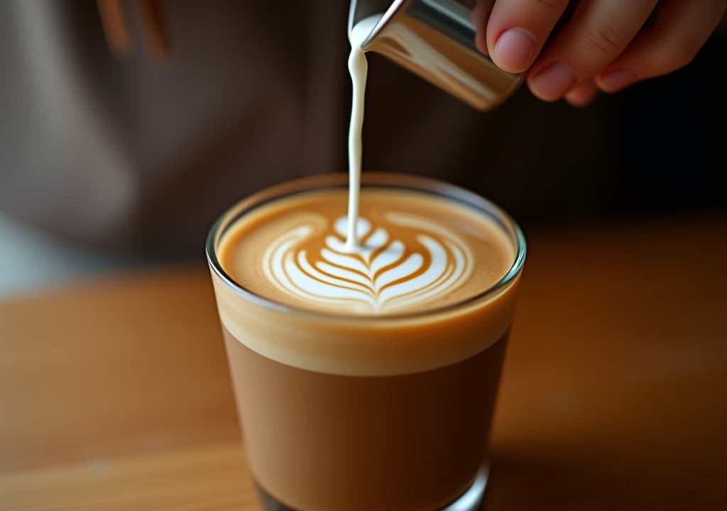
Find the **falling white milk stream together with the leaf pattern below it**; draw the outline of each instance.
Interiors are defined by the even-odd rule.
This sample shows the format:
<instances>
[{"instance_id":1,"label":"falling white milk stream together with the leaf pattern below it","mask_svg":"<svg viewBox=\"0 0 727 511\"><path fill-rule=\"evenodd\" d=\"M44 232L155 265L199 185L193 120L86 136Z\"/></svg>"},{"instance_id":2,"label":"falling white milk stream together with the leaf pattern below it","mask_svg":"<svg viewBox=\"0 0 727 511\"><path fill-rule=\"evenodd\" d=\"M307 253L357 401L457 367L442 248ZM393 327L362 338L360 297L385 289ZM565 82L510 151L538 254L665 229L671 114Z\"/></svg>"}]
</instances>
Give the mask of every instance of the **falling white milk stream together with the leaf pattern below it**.
<instances>
[{"instance_id":1,"label":"falling white milk stream together with the leaf pattern below it","mask_svg":"<svg viewBox=\"0 0 727 511\"><path fill-rule=\"evenodd\" d=\"M418 249L407 250L385 225L358 216L361 194L361 127L364 124L366 55L361 43L381 15L356 23L350 33L348 71L353 84L348 131L348 216L334 222L320 254L308 254L302 243L313 225L283 233L263 254L262 268L278 289L305 302L361 313L406 310L456 289L473 271L469 246L432 219L389 211L393 226L417 231ZM365 239L365 243L361 240Z\"/></svg>"}]
</instances>

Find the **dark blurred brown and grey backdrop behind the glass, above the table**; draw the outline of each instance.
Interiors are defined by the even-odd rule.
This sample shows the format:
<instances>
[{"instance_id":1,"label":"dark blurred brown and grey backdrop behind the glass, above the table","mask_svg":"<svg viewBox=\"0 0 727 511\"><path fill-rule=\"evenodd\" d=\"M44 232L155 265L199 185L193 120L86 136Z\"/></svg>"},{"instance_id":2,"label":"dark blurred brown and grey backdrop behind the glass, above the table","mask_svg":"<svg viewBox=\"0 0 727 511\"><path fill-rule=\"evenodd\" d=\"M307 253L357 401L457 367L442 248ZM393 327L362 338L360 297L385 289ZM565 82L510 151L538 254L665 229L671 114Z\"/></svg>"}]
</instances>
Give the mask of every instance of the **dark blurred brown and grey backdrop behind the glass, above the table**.
<instances>
[{"instance_id":1,"label":"dark blurred brown and grey backdrop behind the glass, above the table","mask_svg":"<svg viewBox=\"0 0 727 511\"><path fill-rule=\"evenodd\" d=\"M0 3L0 297L199 261L215 218L345 172L348 2ZM727 213L727 31L585 109L478 113L369 57L364 172L475 190L526 230Z\"/></svg>"}]
</instances>

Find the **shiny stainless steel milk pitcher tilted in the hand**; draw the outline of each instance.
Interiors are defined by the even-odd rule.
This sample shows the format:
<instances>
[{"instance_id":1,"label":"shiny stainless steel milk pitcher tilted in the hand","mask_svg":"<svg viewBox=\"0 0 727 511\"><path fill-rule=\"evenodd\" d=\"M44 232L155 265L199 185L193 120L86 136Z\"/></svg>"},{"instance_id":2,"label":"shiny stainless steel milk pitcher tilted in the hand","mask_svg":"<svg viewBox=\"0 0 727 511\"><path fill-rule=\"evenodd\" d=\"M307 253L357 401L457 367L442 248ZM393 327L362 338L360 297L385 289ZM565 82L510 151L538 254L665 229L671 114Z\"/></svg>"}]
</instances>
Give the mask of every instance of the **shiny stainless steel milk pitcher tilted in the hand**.
<instances>
[{"instance_id":1,"label":"shiny stainless steel milk pitcher tilted in the hand","mask_svg":"<svg viewBox=\"0 0 727 511\"><path fill-rule=\"evenodd\" d=\"M382 15L361 48L377 52L478 110L510 97L524 75L506 73L475 47L472 10L457 0L352 0L348 31Z\"/></svg>"}]
</instances>

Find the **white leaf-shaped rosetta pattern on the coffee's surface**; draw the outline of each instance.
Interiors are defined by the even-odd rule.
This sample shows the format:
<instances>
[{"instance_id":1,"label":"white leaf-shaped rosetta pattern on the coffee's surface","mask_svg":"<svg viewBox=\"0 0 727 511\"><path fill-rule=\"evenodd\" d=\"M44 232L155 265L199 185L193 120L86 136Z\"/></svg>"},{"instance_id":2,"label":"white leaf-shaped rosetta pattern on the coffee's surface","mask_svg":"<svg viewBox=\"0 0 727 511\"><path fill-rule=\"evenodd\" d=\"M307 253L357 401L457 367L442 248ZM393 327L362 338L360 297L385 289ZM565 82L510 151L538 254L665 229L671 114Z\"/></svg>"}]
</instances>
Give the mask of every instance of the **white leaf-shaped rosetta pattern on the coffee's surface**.
<instances>
[{"instance_id":1,"label":"white leaf-shaped rosetta pattern on the coffee's surface","mask_svg":"<svg viewBox=\"0 0 727 511\"><path fill-rule=\"evenodd\" d=\"M473 257L461 238L413 214L389 212L384 218L397 232L411 231L413 246L364 217L356 224L361 241L356 249L346 244L346 217L333 223L321 244L310 243L321 236L313 225L300 225L265 251L265 276L297 299L356 313L409 309L441 298L470 278Z\"/></svg>"}]
</instances>

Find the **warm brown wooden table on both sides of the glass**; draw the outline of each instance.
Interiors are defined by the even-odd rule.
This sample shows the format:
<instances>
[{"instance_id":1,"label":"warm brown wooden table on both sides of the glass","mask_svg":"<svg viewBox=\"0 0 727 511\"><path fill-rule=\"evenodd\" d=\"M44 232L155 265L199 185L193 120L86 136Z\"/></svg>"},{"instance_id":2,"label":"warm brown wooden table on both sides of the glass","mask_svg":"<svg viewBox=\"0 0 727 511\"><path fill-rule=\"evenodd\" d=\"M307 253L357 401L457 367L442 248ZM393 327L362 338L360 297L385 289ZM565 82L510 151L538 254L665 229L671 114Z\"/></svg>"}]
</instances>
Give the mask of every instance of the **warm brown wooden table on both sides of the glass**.
<instances>
[{"instance_id":1,"label":"warm brown wooden table on both sides of the glass","mask_svg":"<svg viewBox=\"0 0 727 511\"><path fill-rule=\"evenodd\" d=\"M727 509L727 219L532 233L486 510ZM204 267L0 304L1 510L257 510Z\"/></svg>"}]
</instances>

